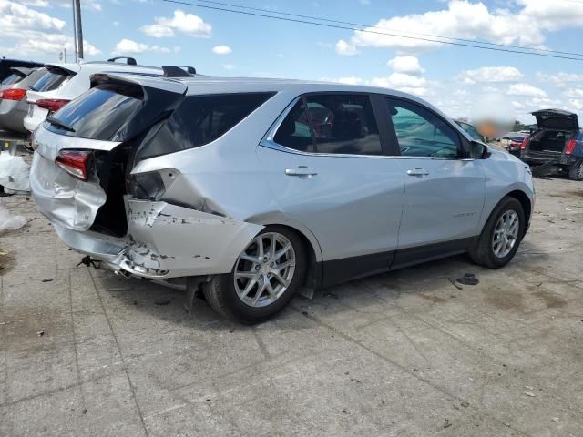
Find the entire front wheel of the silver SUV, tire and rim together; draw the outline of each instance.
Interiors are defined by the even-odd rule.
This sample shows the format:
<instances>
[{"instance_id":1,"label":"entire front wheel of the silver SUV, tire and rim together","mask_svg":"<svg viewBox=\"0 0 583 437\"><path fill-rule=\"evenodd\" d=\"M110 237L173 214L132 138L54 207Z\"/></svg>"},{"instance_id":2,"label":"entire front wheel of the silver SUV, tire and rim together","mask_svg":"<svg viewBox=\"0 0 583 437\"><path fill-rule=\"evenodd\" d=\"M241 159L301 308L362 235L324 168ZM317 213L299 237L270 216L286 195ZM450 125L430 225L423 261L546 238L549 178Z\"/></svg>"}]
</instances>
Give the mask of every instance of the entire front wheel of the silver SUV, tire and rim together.
<instances>
[{"instance_id":1,"label":"entire front wheel of the silver SUV, tire and rim together","mask_svg":"<svg viewBox=\"0 0 583 437\"><path fill-rule=\"evenodd\" d=\"M502 223L500 228L498 227L503 216L508 219L508 222L510 222L510 218L513 217L518 219L514 243L511 243L511 233L506 233L500 230L506 228L512 229L513 227L506 227L506 222ZM506 264L510 262L510 259L513 259L517 253L518 246L520 245L525 233L525 225L525 213L520 202L516 198L503 198L498 205L496 205L496 208L494 208L492 214L490 214L490 217L487 219L486 225L484 225L484 229L482 229L482 233L478 237L476 244L469 250L470 258L476 264L487 267L488 269L499 269L506 266ZM501 240L501 243L495 243L495 231L496 236L503 239ZM502 248L502 246L505 245L505 241L506 246Z\"/></svg>"}]
</instances>

